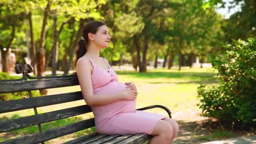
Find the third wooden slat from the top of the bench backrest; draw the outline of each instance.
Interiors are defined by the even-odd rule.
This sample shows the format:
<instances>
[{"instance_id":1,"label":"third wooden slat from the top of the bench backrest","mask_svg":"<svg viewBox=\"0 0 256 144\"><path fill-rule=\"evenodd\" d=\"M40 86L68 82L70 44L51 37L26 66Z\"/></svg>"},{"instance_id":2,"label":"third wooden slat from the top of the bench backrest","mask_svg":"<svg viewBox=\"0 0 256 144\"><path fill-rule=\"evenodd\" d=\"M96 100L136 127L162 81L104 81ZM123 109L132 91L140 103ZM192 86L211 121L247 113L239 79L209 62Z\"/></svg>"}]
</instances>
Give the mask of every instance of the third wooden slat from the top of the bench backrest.
<instances>
[{"instance_id":1,"label":"third wooden slat from the top of the bench backrest","mask_svg":"<svg viewBox=\"0 0 256 144\"><path fill-rule=\"evenodd\" d=\"M25 128L32 125L51 122L53 120L60 120L66 117L81 115L92 112L91 107L87 105L61 109L53 112L46 112L40 115L32 115L21 117L13 120L0 121L0 133L12 131L19 128Z\"/></svg>"}]
</instances>

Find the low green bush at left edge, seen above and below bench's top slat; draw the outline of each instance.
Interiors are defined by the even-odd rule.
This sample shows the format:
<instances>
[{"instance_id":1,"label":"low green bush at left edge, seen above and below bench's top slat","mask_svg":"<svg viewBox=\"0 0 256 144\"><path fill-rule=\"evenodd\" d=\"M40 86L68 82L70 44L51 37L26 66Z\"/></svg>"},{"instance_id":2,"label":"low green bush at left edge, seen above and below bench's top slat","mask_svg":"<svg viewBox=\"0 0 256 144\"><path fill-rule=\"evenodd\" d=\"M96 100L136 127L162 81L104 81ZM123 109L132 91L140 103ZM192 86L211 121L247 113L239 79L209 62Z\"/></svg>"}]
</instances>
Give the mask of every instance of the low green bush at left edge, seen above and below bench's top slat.
<instances>
[{"instance_id":1,"label":"low green bush at left edge, seen above and below bench's top slat","mask_svg":"<svg viewBox=\"0 0 256 144\"><path fill-rule=\"evenodd\" d=\"M17 77L11 77L6 72L0 72L0 80L13 80L13 79L17 79ZM31 93L33 97L40 96L39 91L31 91ZM0 101L9 101L9 100L23 99L23 98L29 98L29 94L27 91L0 94Z\"/></svg>"}]
</instances>

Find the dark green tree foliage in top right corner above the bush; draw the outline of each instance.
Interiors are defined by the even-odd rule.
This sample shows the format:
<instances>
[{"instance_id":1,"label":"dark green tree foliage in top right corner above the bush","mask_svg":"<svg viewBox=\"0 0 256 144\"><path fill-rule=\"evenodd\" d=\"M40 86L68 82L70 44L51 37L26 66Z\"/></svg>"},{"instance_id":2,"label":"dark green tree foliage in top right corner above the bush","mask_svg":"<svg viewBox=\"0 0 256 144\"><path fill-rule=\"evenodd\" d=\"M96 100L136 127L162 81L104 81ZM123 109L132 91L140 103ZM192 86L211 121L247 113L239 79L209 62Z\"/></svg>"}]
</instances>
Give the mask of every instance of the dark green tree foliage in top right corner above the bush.
<instances>
[{"instance_id":1,"label":"dark green tree foliage in top right corner above the bush","mask_svg":"<svg viewBox=\"0 0 256 144\"><path fill-rule=\"evenodd\" d=\"M221 7L228 6L229 9L235 6L240 6L241 11L232 14L229 19L223 22L222 28L225 31L225 40L228 43L232 39L246 40L248 37L255 37L256 35L256 1L255 0L229 0L229 5L225 5L223 0L209 0L204 3L203 8L207 9L217 4Z\"/></svg>"}]
</instances>

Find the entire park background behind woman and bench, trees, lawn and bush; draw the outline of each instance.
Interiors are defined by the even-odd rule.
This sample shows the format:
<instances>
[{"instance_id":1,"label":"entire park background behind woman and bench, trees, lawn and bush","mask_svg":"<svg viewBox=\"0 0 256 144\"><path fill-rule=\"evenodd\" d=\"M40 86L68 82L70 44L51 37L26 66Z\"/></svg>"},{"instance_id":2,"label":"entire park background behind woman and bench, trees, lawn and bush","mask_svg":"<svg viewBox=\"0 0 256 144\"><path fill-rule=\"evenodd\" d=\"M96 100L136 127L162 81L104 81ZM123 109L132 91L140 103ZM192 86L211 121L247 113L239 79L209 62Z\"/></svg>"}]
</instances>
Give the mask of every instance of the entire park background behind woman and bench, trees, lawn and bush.
<instances>
[{"instance_id":1,"label":"entire park background behind woman and bench, trees, lawn and bush","mask_svg":"<svg viewBox=\"0 0 256 144\"><path fill-rule=\"evenodd\" d=\"M173 144L255 134L256 0L1 0L0 80L20 78L15 64L31 64L34 76L72 74L77 42L91 20L107 24L112 39L100 56L119 81L136 85L137 108L161 104L171 109L180 125ZM71 91L80 87L48 89L48 94ZM26 93L0 95L0 101L23 98ZM166 115L160 109L151 112ZM0 119L26 115L33 112L1 114ZM71 119L88 117L93 115ZM35 131L1 133L0 141Z\"/></svg>"}]
</instances>

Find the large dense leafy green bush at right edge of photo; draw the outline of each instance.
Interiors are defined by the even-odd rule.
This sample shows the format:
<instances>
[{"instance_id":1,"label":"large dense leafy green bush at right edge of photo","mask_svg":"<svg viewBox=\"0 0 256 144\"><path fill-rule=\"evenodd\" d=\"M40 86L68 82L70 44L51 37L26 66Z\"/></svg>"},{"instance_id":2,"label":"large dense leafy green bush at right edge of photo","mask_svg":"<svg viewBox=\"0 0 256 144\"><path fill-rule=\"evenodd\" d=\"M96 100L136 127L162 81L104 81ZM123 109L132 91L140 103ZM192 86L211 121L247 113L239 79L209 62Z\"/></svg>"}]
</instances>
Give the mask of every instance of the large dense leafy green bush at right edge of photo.
<instances>
[{"instance_id":1,"label":"large dense leafy green bush at right edge of photo","mask_svg":"<svg viewBox=\"0 0 256 144\"><path fill-rule=\"evenodd\" d=\"M211 56L219 86L197 88L202 115L243 126L256 124L256 39L234 41Z\"/></svg>"}]
</instances>

